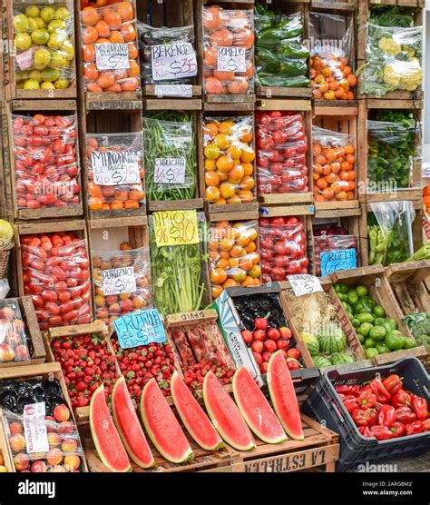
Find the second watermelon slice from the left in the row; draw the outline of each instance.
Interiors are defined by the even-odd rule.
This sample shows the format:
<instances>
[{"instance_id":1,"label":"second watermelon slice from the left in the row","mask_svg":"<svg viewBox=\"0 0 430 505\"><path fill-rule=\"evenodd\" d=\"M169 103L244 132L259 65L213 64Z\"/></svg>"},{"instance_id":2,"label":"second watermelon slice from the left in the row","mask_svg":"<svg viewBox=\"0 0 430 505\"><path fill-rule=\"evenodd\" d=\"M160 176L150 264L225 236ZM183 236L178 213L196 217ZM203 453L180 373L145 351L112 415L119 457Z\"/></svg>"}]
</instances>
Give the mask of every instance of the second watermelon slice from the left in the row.
<instances>
[{"instance_id":1,"label":"second watermelon slice from the left in the row","mask_svg":"<svg viewBox=\"0 0 430 505\"><path fill-rule=\"evenodd\" d=\"M155 461L134 410L123 375L113 386L112 413L121 440L132 460L142 468L152 467Z\"/></svg>"}]
</instances>

